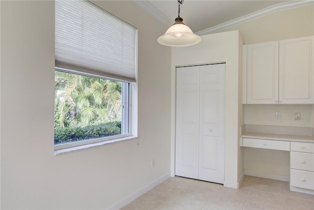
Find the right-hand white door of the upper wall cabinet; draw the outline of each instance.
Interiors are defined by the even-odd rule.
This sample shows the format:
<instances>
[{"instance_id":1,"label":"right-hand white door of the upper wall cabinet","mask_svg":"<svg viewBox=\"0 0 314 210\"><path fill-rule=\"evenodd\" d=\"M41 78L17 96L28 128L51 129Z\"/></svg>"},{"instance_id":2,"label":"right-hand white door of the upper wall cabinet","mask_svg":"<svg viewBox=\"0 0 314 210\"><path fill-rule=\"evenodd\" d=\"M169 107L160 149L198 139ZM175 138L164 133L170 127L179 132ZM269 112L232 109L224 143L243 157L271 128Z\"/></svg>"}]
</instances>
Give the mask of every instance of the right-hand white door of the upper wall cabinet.
<instances>
[{"instance_id":1,"label":"right-hand white door of the upper wall cabinet","mask_svg":"<svg viewBox=\"0 0 314 210\"><path fill-rule=\"evenodd\" d=\"M314 103L313 43L313 36L279 42L279 103Z\"/></svg>"}]
</instances>

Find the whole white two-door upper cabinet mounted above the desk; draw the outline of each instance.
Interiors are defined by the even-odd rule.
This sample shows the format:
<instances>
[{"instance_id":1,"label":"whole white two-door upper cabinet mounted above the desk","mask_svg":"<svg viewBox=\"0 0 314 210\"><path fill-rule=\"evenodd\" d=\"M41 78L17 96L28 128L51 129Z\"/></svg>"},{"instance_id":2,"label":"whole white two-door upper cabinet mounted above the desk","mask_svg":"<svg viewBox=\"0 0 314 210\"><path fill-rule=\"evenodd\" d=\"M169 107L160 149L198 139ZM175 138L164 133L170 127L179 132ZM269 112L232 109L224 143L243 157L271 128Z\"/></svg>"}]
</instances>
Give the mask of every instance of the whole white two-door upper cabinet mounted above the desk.
<instances>
[{"instance_id":1,"label":"whole white two-door upper cabinet mounted above the desk","mask_svg":"<svg viewBox=\"0 0 314 210\"><path fill-rule=\"evenodd\" d=\"M313 38L244 45L243 104L313 104Z\"/></svg>"}]
</instances>

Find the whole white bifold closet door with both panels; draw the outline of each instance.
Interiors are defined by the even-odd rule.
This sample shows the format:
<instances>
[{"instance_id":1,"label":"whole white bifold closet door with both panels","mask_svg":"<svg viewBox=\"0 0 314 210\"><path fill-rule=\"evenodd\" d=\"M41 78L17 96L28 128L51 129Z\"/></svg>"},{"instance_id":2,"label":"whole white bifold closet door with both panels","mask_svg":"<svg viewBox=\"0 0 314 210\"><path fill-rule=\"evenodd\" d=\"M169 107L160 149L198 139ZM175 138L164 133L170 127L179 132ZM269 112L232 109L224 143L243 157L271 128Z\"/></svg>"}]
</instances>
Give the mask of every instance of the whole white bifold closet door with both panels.
<instances>
[{"instance_id":1,"label":"whole white bifold closet door with both panels","mask_svg":"<svg viewBox=\"0 0 314 210\"><path fill-rule=\"evenodd\" d=\"M223 183L225 63L177 68L176 175Z\"/></svg>"}]
</instances>

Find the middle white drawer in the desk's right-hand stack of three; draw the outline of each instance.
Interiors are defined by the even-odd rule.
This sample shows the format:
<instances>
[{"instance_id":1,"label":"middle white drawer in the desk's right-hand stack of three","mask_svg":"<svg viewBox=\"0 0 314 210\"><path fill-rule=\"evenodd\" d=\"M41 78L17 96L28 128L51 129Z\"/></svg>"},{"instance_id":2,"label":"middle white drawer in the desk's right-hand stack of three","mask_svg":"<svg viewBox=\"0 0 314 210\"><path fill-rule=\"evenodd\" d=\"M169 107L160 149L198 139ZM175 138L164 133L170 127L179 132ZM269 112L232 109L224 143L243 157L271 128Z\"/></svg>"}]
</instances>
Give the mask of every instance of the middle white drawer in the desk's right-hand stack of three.
<instances>
[{"instance_id":1,"label":"middle white drawer in the desk's right-hand stack of three","mask_svg":"<svg viewBox=\"0 0 314 210\"><path fill-rule=\"evenodd\" d=\"M305 152L290 152L290 168L314 171L314 154Z\"/></svg>"}]
</instances>

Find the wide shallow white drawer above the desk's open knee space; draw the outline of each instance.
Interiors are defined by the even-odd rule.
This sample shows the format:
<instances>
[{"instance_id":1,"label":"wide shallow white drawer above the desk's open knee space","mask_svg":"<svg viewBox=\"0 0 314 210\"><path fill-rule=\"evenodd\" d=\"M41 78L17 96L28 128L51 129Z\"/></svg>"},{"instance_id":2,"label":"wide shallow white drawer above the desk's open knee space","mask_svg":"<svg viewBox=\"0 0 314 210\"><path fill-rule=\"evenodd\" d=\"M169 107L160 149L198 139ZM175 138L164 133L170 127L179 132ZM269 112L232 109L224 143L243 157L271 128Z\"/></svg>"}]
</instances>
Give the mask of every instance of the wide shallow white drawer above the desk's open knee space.
<instances>
[{"instance_id":1,"label":"wide shallow white drawer above the desk's open knee space","mask_svg":"<svg viewBox=\"0 0 314 210\"><path fill-rule=\"evenodd\" d=\"M290 151L290 142L243 138L243 147Z\"/></svg>"}]
</instances>

